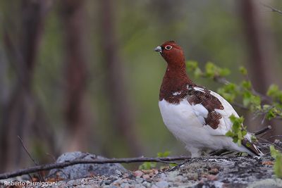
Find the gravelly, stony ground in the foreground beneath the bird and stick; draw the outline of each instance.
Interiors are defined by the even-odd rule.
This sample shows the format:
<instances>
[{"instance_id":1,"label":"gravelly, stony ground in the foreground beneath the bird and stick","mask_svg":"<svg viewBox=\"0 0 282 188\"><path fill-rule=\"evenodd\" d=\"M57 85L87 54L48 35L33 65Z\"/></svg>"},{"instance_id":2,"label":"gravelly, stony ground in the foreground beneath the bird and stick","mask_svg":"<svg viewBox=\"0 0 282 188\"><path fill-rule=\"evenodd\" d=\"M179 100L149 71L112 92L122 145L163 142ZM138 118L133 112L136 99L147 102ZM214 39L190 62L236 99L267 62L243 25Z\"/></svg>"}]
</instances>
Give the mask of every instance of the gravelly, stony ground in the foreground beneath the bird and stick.
<instances>
[{"instance_id":1,"label":"gravelly, stony ground in the foreground beneath the bird and stick","mask_svg":"<svg viewBox=\"0 0 282 188\"><path fill-rule=\"evenodd\" d=\"M282 187L270 157L192 158L168 170L137 170L118 175L66 180L53 187Z\"/></svg>"}]
</instances>

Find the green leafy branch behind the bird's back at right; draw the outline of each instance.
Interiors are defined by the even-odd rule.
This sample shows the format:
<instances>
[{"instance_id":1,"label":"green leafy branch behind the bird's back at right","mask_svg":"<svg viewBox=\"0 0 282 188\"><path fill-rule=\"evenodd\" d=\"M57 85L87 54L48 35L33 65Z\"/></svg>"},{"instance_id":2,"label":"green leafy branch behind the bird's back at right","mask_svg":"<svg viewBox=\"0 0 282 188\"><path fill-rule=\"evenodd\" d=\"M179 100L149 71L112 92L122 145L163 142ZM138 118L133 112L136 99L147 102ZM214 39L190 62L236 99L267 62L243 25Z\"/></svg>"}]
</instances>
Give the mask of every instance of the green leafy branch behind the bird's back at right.
<instances>
[{"instance_id":1,"label":"green leafy branch behind the bird's back at right","mask_svg":"<svg viewBox=\"0 0 282 188\"><path fill-rule=\"evenodd\" d=\"M262 115L263 120L282 120L282 91L276 84L271 84L266 94L261 94L252 87L247 70L243 66L239 71L244 79L235 84L226 79L231 73L228 68L219 68L212 62L206 63L204 70L199 68L196 61L188 61L186 65L195 77L205 77L223 84L217 92L234 106L250 110L255 116Z\"/></svg>"}]
</instances>

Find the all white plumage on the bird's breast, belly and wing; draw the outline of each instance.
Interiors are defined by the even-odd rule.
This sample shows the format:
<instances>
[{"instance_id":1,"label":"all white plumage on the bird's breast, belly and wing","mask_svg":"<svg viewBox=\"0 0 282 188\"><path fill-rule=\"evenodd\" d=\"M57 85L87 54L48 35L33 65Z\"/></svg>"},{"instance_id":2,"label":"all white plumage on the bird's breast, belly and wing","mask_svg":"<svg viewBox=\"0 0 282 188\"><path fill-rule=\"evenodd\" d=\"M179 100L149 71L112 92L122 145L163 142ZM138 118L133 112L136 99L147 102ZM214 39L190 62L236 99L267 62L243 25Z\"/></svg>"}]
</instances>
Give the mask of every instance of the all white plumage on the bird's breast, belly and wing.
<instances>
[{"instance_id":1,"label":"all white plumage on the bird's breast, belly and wing","mask_svg":"<svg viewBox=\"0 0 282 188\"><path fill-rule=\"evenodd\" d=\"M207 109L202 104L192 105L185 98L179 104L168 103L165 99L159 101L161 116L168 130L186 145L186 149L191 152L192 157L200 156L201 151L219 149L242 151L253 155L244 146L235 144L231 137L225 136L232 126L230 115L238 117L238 114L222 96L215 92L211 92L211 94L216 96L224 107L224 110L215 109L222 115L216 130L209 125L204 125L204 118L207 118L208 114ZM249 133L245 137L250 141Z\"/></svg>"}]
</instances>

